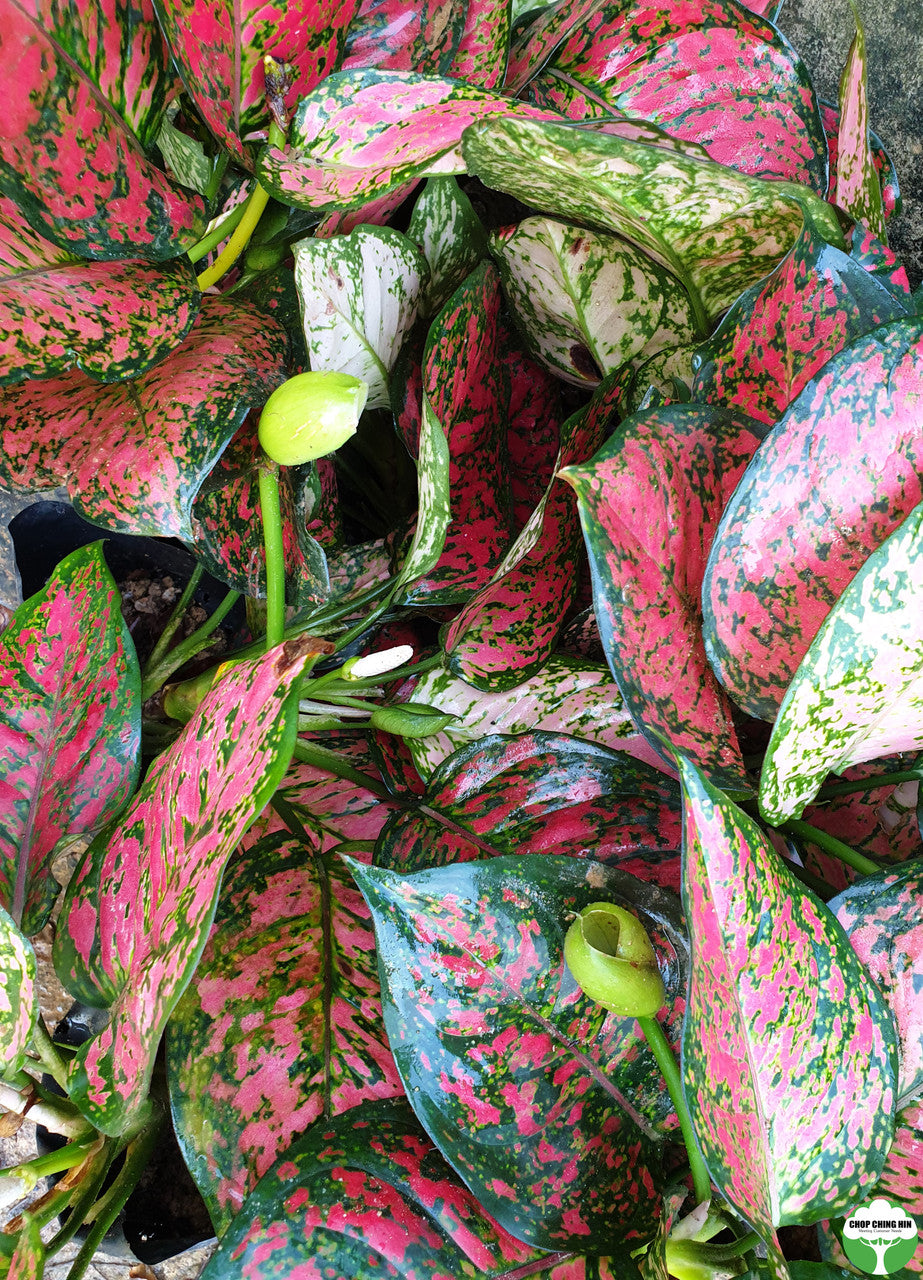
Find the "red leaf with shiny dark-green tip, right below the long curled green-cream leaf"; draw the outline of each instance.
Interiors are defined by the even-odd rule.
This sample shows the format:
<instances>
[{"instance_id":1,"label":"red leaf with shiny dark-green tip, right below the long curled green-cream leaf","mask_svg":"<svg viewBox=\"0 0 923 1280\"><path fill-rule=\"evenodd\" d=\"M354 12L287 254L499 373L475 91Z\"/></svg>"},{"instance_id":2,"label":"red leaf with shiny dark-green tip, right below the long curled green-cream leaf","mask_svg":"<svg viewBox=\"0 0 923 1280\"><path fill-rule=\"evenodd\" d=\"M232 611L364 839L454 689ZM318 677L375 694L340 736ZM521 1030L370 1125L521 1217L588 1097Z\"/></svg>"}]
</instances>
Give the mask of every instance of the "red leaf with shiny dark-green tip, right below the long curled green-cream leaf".
<instances>
[{"instance_id":1,"label":"red leaf with shiny dark-green tip, right below the long curled green-cream leaf","mask_svg":"<svg viewBox=\"0 0 923 1280\"><path fill-rule=\"evenodd\" d=\"M696 353L693 398L773 424L832 356L910 310L805 218L772 275L734 303Z\"/></svg>"}]
</instances>

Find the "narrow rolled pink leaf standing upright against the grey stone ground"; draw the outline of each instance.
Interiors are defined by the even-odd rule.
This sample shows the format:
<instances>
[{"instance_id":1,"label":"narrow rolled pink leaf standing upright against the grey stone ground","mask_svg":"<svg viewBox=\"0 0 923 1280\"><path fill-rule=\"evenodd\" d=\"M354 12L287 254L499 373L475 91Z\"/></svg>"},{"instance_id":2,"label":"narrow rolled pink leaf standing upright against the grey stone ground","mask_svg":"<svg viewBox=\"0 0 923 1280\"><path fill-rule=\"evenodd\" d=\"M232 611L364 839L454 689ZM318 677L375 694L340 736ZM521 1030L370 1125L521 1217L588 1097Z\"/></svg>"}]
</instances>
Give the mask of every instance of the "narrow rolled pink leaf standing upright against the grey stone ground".
<instances>
[{"instance_id":1,"label":"narrow rolled pink leaf standing upright against the grey stone ground","mask_svg":"<svg viewBox=\"0 0 923 1280\"><path fill-rule=\"evenodd\" d=\"M886 215L868 131L865 32L858 9L854 17L855 38L840 77L835 201L883 241Z\"/></svg>"}]
</instances>

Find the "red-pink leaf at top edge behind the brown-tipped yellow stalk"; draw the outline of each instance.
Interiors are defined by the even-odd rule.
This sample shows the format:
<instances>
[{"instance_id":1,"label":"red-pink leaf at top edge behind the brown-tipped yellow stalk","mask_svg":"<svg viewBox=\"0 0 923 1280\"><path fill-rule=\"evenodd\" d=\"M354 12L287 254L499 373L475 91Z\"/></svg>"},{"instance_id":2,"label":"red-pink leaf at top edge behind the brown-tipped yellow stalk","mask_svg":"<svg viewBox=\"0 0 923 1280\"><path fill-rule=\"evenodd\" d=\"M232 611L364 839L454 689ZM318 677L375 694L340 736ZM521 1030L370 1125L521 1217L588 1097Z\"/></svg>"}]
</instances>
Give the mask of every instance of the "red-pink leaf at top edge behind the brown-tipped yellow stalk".
<instances>
[{"instance_id":1,"label":"red-pink leaf at top edge behind the brown-tipped yellow stalk","mask_svg":"<svg viewBox=\"0 0 923 1280\"><path fill-rule=\"evenodd\" d=\"M294 72L291 111L339 65L358 0L155 0L186 90L214 136L250 168L245 141L265 134L264 58Z\"/></svg>"}]
</instances>

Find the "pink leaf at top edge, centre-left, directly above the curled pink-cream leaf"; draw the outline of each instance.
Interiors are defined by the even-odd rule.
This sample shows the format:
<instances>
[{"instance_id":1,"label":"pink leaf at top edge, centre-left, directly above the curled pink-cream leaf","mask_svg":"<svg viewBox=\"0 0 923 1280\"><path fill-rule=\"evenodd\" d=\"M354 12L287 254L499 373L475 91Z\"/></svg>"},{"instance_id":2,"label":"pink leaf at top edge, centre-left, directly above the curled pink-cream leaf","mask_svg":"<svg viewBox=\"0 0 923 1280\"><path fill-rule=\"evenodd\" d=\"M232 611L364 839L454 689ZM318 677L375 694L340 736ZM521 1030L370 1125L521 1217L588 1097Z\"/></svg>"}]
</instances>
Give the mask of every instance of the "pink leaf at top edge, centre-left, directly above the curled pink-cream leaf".
<instances>
[{"instance_id":1,"label":"pink leaf at top edge, centre-left, directly above the curled pink-cream leaf","mask_svg":"<svg viewBox=\"0 0 923 1280\"><path fill-rule=\"evenodd\" d=\"M510 38L508 0L364 0L349 28L344 70L449 76L497 88Z\"/></svg>"}]
</instances>

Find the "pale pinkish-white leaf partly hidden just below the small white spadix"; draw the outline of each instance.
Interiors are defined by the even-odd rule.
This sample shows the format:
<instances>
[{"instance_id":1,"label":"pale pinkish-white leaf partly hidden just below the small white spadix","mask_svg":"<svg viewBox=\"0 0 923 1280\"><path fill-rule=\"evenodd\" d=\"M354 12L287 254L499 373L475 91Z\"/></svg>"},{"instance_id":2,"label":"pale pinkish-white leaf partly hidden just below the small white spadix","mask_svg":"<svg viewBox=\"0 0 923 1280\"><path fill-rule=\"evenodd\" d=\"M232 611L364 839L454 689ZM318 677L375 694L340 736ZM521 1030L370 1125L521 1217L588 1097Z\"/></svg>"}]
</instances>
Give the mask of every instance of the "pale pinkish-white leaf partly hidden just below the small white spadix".
<instances>
[{"instance_id":1,"label":"pale pinkish-white leaf partly hidden just below the small white spadix","mask_svg":"<svg viewBox=\"0 0 923 1280\"><path fill-rule=\"evenodd\" d=\"M659 763L625 709L618 685L603 667L553 654L529 680L508 690L481 692L444 667L407 681L398 698L438 707L458 718L440 733L408 741L413 763L429 778L458 748L488 733L543 730L599 742L646 764Z\"/></svg>"}]
</instances>

